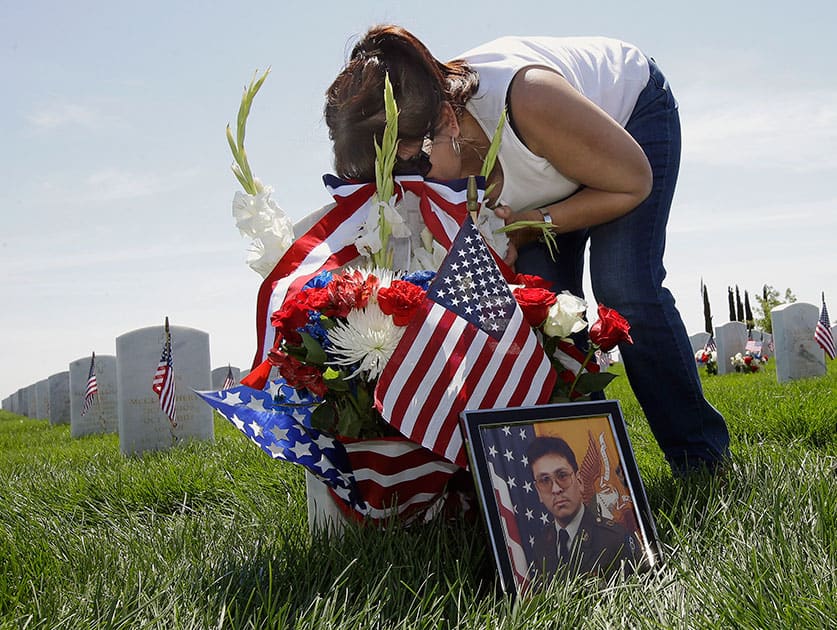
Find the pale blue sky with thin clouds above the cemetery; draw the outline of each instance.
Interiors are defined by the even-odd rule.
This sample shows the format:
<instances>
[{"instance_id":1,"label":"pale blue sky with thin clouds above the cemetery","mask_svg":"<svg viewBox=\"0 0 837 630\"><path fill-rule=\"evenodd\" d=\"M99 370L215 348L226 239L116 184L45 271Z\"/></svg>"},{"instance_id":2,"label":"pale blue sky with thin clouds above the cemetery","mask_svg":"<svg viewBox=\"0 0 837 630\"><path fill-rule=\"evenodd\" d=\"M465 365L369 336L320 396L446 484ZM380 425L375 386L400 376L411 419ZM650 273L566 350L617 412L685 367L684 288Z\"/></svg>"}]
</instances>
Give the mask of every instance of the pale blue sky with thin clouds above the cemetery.
<instances>
[{"instance_id":1,"label":"pale blue sky with thin clouds above the cemetery","mask_svg":"<svg viewBox=\"0 0 837 630\"><path fill-rule=\"evenodd\" d=\"M688 331L703 328L701 277L716 325L736 284L815 304L824 290L837 313L834 7L0 0L0 394L166 315L209 333L213 367L249 367L261 279L231 215L224 128L271 66L251 165L294 219L327 203L323 93L378 22L443 59L506 34L639 45L681 106L666 284Z\"/></svg>"}]
</instances>

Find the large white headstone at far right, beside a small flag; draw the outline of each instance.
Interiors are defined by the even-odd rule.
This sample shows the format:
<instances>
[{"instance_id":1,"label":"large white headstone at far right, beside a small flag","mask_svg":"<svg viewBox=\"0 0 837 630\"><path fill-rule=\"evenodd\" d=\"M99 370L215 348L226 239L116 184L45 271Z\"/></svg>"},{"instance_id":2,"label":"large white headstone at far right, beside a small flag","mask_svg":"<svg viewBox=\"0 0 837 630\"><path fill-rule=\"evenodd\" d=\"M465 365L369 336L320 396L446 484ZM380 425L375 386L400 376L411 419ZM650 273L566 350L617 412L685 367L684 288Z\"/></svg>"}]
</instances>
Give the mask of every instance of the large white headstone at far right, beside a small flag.
<instances>
[{"instance_id":1,"label":"large white headstone at far right, beside a small flag","mask_svg":"<svg viewBox=\"0 0 837 630\"><path fill-rule=\"evenodd\" d=\"M770 311L780 383L825 374L825 352L814 341L819 318L819 309L805 302L782 304Z\"/></svg>"}]
</instances>

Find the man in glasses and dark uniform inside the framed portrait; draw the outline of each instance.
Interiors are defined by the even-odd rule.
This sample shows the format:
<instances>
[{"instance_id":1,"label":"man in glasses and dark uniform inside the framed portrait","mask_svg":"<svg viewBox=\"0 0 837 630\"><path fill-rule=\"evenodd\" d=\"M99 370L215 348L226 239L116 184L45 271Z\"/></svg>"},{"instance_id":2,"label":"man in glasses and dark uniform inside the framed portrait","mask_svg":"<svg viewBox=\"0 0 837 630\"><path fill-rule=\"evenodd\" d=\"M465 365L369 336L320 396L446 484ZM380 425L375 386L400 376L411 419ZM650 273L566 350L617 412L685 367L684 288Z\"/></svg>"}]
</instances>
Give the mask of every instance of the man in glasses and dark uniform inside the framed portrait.
<instances>
[{"instance_id":1,"label":"man in glasses and dark uniform inside the framed portrait","mask_svg":"<svg viewBox=\"0 0 837 630\"><path fill-rule=\"evenodd\" d=\"M575 453L557 437L538 437L527 450L538 498L552 520L535 537L533 562L541 575L608 575L630 571L639 557L636 540L618 523L603 519L595 501L582 499L583 480Z\"/></svg>"}]
</instances>

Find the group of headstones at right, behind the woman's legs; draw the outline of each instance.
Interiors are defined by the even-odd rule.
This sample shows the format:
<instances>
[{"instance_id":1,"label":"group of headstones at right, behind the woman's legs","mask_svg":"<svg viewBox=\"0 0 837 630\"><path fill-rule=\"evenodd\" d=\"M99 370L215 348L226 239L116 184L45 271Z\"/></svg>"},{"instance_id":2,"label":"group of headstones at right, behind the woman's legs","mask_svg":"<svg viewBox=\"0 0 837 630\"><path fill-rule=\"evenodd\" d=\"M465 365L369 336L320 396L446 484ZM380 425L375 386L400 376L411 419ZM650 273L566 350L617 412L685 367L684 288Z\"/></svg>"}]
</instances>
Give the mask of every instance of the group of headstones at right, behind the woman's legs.
<instances>
[{"instance_id":1,"label":"group of headstones at right, behind the woman's legs","mask_svg":"<svg viewBox=\"0 0 837 630\"><path fill-rule=\"evenodd\" d=\"M795 302L770 311L772 335L758 330L749 333L742 322L717 326L718 374L734 372L730 357L739 352L744 354L747 341L753 339L762 344L762 356L776 361L776 378L780 383L822 376L826 372L825 353L814 340L819 317L820 310L813 304ZM837 338L837 325L831 327L831 334ZM705 347L709 333L696 333L690 339L692 350L697 352Z\"/></svg>"}]
</instances>

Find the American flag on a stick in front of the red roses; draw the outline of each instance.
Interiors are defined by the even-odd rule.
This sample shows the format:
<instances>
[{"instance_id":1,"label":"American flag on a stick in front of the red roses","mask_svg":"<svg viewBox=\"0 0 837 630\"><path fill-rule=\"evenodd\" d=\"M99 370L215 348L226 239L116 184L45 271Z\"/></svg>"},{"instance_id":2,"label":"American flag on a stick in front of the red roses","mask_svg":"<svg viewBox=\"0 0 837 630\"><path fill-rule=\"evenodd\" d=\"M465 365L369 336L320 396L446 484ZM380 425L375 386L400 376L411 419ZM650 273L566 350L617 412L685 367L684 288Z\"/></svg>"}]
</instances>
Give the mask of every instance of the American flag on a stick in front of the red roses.
<instances>
[{"instance_id":1,"label":"American flag on a stick in front of the red roses","mask_svg":"<svg viewBox=\"0 0 837 630\"><path fill-rule=\"evenodd\" d=\"M468 216L375 389L384 419L462 466L464 409L546 402L556 375Z\"/></svg>"}]
</instances>

